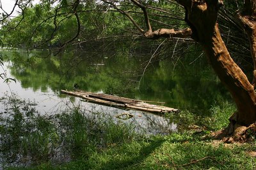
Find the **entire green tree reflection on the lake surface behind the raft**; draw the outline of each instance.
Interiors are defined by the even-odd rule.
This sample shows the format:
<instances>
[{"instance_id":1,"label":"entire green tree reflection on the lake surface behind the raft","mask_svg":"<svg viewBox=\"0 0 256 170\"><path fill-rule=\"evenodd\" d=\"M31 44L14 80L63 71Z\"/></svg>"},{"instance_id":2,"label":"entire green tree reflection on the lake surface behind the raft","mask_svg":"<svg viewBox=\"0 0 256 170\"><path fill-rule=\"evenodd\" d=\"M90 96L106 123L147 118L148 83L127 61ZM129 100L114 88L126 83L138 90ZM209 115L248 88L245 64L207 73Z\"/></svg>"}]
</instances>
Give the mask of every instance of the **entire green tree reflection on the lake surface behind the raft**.
<instances>
[{"instance_id":1,"label":"entire green tree reflection on the lake surface behind the raft","mask_svg":"<svg viewBox=\"0 0 256 170\"><path fill-rule=\"evenodd\" d=\"M32 87L35 91L72 89L77 84L85 91L162 101L170 107L202 112L214 102L219 104L229 98L202 59L200 49L184 45L183 50L173 51L169 44L163 45L164 50L159 50L149 65L148 60L157 45L145 45L148 49L140 45L132 48L116 46L111 51L99 52L70 50L58 57L47 58L44 58L47 56L45 52L31 52L29 56L37 58L28 58L27 54L17 51L12 56L11 70L23 88ZM166 57L168 47L172 58ZM148 68L138 89L146 65Z\"/></svg>"}]
</instances>

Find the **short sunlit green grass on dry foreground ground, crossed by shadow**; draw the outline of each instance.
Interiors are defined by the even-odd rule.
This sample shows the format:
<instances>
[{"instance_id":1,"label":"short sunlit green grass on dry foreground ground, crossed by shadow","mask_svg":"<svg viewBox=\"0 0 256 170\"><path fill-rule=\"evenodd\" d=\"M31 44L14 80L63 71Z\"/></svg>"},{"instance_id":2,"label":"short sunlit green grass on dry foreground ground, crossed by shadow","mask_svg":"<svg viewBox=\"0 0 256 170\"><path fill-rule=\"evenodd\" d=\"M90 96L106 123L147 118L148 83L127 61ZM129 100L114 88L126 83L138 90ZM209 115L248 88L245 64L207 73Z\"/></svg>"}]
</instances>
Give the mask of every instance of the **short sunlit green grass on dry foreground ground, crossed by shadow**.
<instances>
[{"instance_id":1,"label":"short sunlit green grass on dry foreground ground, crossed by shadow","mask_svg":"<svg viewBox=\"0 0 256 170\"><path fill-rule=\"evenodd\" d=\"M255 149L255 144L214 145L191 134L172 134L121 144L59 166L31 169L255 169L256 158L247 154Z\"/></svg>"}]
</instances>

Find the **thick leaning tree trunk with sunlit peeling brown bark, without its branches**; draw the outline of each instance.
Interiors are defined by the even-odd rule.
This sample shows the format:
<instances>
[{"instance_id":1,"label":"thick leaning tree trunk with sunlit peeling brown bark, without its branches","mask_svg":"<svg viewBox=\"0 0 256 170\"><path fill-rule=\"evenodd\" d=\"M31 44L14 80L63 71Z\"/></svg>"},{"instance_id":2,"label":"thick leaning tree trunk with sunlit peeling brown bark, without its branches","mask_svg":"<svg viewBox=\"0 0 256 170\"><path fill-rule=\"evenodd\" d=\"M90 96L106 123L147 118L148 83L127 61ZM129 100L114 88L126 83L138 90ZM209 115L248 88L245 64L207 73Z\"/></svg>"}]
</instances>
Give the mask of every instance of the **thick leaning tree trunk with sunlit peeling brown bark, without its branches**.
<instances>
[{"instance_id":1,"label":"thick leaning tree trunk with sunlit peeling brown bark, without its branches","mask_svg":"<svg viewBox=\"0 0 256 170\"><path fill-rule=\"evenodd\" d=\"M221 0L179 0L178 2L186 9L185 20L192 29L192 38L204 47L209 63L234 98L238 111L230 118L232 123L243 126L255 123L254 88L241 68L230 57L216 24L218 10L223 2ZM252 44L255 45L255 42Z\"/></svg>"}]
</instances>

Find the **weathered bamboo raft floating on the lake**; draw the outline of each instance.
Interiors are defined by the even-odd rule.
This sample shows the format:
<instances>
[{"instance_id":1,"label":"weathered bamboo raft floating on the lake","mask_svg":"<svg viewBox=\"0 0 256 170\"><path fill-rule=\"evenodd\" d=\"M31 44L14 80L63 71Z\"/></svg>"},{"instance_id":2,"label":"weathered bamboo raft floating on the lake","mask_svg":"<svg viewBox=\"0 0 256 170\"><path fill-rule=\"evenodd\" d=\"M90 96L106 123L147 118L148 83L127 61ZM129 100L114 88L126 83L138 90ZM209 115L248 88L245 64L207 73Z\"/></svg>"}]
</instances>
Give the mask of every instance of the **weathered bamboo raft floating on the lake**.
<instances>
[{"instance_id":1,"label":"weathered bamboo raft floating on the lake","mask_svg":"<svg viewBox=\"0 0 256 170\"><path fill-rule=\"evenodd\" d=\"M81 90L66 91L63 89L61 89L61 93L65 95L72 95L74 97L83 98L85 102L93 102L96 104L118 107L120 109L134 109L138 111L154 112L157 114L163 114L166 112L179 112L179 109L173 109L171 107L166 107L163 105L148 104L143 100L134 100L131 98L117 97L113 95L92 93Z\"/></svg>"}]
</instances>

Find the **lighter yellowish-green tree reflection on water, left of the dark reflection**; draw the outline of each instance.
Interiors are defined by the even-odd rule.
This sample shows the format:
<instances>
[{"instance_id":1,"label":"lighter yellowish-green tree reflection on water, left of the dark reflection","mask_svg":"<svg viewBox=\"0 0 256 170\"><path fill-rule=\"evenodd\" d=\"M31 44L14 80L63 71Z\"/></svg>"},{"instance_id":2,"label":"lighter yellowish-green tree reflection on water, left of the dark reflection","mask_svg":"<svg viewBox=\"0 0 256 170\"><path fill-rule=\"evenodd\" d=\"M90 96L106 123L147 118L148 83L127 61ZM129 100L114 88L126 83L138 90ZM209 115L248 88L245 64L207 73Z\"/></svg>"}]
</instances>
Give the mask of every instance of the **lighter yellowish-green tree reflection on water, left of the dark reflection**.
<instances>
[{"instance_id":1,"label":"lighter yellowish-green tree reflection on water, left of the dark reflection","mask_svg":"<svg viewBox=\"0 0 256 170\"><path fill-rule=\"evenodd\" d=\"M66 52L60 58L34 58L26 66L27 58L20 56L19 61L13 60L11 69L24 88L38 90L46 86L57 91L61 88L72 89L76 83L81 89L112 91L118 95L124 91L120 89L125 89L121 87L131 86L125 79L134 73L134 61L118 57L110 59L107 55L83 54L76 57L75 52Z\"/></svg>"}]
</instances>

